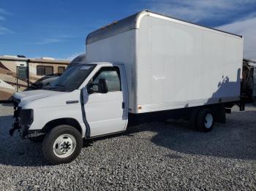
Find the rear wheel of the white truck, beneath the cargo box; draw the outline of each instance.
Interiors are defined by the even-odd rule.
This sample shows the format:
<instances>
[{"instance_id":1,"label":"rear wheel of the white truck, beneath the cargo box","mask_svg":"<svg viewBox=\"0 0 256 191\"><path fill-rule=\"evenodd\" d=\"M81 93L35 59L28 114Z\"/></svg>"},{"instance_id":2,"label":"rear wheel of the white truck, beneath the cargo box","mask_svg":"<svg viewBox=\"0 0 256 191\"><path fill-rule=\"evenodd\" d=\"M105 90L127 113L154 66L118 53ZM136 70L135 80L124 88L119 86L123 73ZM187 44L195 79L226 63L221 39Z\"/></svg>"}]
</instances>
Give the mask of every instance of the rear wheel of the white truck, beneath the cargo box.
<instances>
[{"instance_id":1,"label":"rear wheel of the white truck, beneath the cargo box","mask_svg":"<svg viewBox=\"0 0 256 191\"><path fill-rule=\"evenodd\" d=\"M210 118L210 120L206 120ZM209 132L214 127L215 117L211 109L201 109L197 114L197 129L203 132Z\"/></svg>"}]
</instances>

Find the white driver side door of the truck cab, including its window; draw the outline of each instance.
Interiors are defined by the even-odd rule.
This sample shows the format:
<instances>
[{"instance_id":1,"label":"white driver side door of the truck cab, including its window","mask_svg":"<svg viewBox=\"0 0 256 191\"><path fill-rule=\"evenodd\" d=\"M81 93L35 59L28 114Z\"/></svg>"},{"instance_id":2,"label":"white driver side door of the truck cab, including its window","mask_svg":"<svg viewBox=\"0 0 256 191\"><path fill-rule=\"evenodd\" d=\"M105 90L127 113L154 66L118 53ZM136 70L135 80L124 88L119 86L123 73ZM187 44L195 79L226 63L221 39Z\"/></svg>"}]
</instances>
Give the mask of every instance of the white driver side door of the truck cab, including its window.
<instances>
[{"instance_id":1,"label":"white driver side door of the truck cab, including its window","mask_svg":"<svg viewBox=\"0 0 256 191\"><path fill-rule=\"evenodd\" d=\"M107 93L99 93L99 79L108 84ZM123 131L127 125L127 112L124 108L124 82L117 66L102 67L91 79L93 86L87 91L85 103L86 120L90 126L91 136ZM125 88L124 88L125 89Z\"/></svg>"}]
</instances>

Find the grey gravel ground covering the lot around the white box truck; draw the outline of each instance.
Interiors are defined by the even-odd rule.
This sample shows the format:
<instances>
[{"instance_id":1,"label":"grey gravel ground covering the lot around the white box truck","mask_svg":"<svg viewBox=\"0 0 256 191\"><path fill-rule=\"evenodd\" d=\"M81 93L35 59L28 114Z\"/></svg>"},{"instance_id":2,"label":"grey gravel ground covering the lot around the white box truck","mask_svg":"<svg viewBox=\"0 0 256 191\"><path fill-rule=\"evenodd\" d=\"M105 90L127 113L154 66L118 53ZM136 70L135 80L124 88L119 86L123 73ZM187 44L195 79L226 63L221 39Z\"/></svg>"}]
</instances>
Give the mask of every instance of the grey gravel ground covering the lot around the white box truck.
<instances>
[{"instance_id":1,"label":"grey gravel ground covering the lot around the white box truck","mask_svg":"<svg viewBox=\"0 0 256 191\"><path fill-rule=\"evenodd\" d=\"M210 133L153 122L85 144L69 164L48 165L41 144L10 137L0 105L0 190L256 190L256 108Z\"/></svg>"}]
</instances>

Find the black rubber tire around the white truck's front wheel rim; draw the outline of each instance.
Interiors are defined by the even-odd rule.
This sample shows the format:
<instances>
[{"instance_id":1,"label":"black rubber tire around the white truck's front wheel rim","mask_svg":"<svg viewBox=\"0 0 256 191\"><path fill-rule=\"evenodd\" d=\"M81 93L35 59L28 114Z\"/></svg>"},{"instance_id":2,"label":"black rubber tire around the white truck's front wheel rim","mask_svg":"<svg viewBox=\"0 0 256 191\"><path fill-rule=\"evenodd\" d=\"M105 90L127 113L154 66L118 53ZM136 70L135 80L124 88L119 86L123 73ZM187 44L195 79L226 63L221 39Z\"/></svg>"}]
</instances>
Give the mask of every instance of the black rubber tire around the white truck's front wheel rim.
<instances>
[{"instance_id":1,"label":"black rubber tire around the white truck's front wheel rim","mask_svg":"<svg viewBox=\"0 0 256 191\"><path fill-rule=\"evenodd\" d=\"M56 144L56 149L53 149L53 144L61 136L64 137L63 139L68 139L68 136L65 138L64 135L68 135L74 139L73 142L75 142L75 147L73 147L74 149L69 156L59 157L60 155L58 156L58 154L56 154L56 149L58 148L60 150L61 148L63 149L69 147L69 142L67 141L67 147L64 147L62 144L65 144L66 142L62 142L61 145ZM70 125L59 125L56 128L51 129L46 134L45 139L42 141L42 153L45 156L45 159L53 165L70 163L72 160L75 160L75 158L80 154L82 147L83 139L81 133Z\"/></svg>"}]
</instances>

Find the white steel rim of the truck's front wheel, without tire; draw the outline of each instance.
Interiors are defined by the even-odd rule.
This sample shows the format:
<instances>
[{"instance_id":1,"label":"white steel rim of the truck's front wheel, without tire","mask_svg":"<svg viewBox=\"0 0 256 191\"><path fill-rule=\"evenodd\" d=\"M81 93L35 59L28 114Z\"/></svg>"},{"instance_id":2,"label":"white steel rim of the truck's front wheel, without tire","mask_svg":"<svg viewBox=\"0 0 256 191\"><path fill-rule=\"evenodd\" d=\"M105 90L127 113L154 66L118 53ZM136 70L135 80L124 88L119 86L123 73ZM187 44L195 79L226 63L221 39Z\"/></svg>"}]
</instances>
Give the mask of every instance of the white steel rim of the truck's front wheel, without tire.
<instances>
[{"instance_id":1,"label":"white steel rim of the truck's front wheel, without tire","mask_svg":"<svg viewBox=\"0 0 256 191\"><path fill-rule=\"evenodd\" d=\"M59 136L53 144L53 152L57 157L69 157L75 151L75 137L69 134Z\"/></svg>"}]
</instances>

